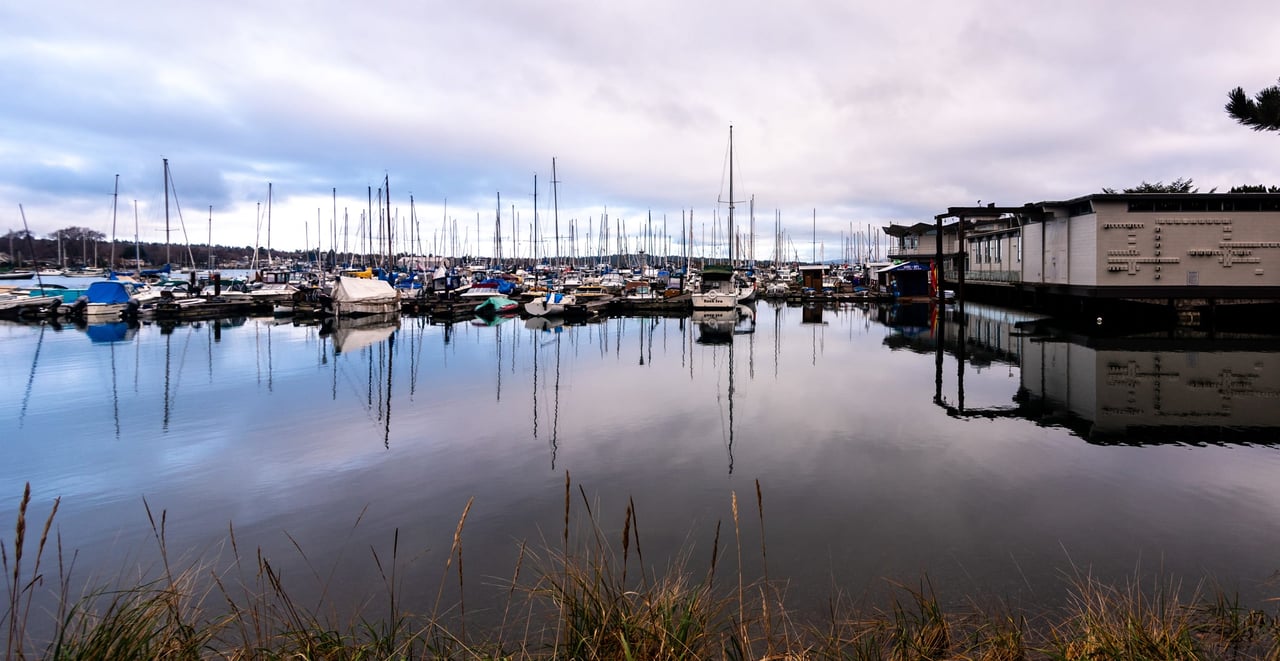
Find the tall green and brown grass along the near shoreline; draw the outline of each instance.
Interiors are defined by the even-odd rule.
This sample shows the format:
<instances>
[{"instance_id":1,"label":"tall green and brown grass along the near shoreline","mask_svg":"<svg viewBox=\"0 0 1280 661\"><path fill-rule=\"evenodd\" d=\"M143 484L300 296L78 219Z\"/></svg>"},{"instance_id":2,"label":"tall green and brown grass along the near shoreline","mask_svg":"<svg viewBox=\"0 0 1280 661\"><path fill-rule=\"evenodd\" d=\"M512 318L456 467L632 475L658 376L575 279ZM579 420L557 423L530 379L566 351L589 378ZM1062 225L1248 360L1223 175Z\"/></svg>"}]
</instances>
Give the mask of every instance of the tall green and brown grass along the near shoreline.
<instances>
[{"instance_id":1,"label":"tall green and brown grass along the near shoreline","mask_svg":"<svg viewBox=\"0 0 1280 661\"><path fill-rule=\"evenodd\" d=\"M1009 608L945 610L929 582L897 585L881 607L858 607L836 594L818 621L797 621L782 589L768 578L763 535L763 494L755 510L762 530L764 575L742 575L737 494L731 494L736 566L724 570L717 524L710 569L695 575L687 562L662 571L645 564L634 503L626 507L617 543L605 538L585 492L579 488L585 533L573 535L575 494L566 474L561 539L531 550L521 546L509 582L500 589L500 621L467 628L466 603L442 603L445 582L463 594L463 509L445 560L435 603L407 612L397 579L398 539L390 557L374 553L385 585L385 617L335 624L337 617L291 598L279 573L259 551L252 559L229 542L236 571L193 564L174 570L165 548L165 515L147 510L159 544L159 576L136 584L73 594L74 555L50 539L55 501L40 538L28 520L29 486L23 493L12 547L0 542L6 600L0 628L5 658L261 658L261 660L1198 660L1280 661L1280 619L1242 607L1226 596L1187 591L1176 582L1124 585L1087 574L1071 580L1065 608L1028 614ZM557 543L558 542L558 543ZM724 541L728 547L728 541ZM56 561L55 567L47 562ZM247 571L246 571L247 569ZM230 580L229 576L252 576ZM51 614L33 607L37 591L56 597ZM372 610L372 608L370 608ZM33 621L49 617L51 621ZM49 639L28 632L52 630Z\"/></svg>"}]
</instances>

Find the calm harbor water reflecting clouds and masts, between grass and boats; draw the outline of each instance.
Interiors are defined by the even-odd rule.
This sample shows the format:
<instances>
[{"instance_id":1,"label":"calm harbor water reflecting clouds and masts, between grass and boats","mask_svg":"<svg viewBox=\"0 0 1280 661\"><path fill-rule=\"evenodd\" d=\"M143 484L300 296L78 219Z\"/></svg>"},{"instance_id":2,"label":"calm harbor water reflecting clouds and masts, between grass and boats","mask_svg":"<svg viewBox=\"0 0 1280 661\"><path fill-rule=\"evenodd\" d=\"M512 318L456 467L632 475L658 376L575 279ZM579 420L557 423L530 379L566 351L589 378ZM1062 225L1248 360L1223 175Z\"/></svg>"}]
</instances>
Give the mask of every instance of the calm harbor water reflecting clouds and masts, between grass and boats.
<instances>
[{"instance_id":1,"label":"calm harbor water reflecting clouds and masts, between grass and boats","mask_svg":"<svg viewBox=\"0 0 1280 661\"><path fill-rule=\"evenodd\" d=\"M146 502L170 556L225 561L234 525L242 555L338 603L376 588L398 533L429 606L475 498L480 608L521 541L558 547L566 473L609 539L634 500L659 567L681 550L704 567L723 521L732 574L736 492L749 575L759 480L768 571L800 608L924 575L948 600L1052 603L1074 571L1276 596L1275 342L1047 339L975 306L961 341L955 319L760 302L552 328L0 323L4 520L29 482L33 518L61 498L86 580L133 575L155 567Z\"/></svg>"}]
</instances>

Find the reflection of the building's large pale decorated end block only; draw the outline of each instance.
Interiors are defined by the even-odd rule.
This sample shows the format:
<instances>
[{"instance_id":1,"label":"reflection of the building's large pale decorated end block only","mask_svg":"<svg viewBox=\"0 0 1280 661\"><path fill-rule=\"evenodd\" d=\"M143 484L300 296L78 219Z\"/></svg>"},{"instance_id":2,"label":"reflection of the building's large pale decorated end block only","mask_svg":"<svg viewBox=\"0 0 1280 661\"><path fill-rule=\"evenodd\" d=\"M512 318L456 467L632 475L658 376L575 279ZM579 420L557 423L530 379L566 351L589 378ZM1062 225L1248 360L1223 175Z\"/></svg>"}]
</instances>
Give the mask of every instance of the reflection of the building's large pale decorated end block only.
<instances>
[{"instance_id":1,"label":"reflection of the building's large pale decorated end block only","mask_svg":"<svg viewBox=\"0 0 1280 661\"><path fill-rule=\"evenodd\" d=\"M1263 443L1280 439L1280 354L1271 341L1158 337L1024 342L1016 401L1037 423L1091 443Z\"/></svg>"}]
</instances>

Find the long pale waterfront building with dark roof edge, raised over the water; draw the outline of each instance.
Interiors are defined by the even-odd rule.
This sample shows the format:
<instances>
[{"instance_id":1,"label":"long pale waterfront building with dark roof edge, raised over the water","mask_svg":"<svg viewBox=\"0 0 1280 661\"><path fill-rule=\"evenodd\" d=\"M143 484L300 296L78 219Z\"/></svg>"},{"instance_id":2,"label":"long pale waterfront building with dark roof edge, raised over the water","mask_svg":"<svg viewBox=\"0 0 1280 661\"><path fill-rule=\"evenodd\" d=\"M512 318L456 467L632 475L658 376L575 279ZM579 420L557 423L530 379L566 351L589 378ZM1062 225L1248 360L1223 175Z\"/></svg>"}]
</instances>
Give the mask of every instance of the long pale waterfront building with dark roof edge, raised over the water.
<instances>
[{"instance_id":1,"label":"long pale waterfront building with dark roof edge, raised over the water","mask_svg":"<svg viewBox=\"0 0 1280 661\"><path fill-rule=\"evenodd\" d=\"M899 240L891 257L941 263L941 288L960 297L1091 318L1152 306L1193 316L1280 307L1277 193L1096 193L960 206L932 227L884 231Z\"/></svg>"}]
</instances>

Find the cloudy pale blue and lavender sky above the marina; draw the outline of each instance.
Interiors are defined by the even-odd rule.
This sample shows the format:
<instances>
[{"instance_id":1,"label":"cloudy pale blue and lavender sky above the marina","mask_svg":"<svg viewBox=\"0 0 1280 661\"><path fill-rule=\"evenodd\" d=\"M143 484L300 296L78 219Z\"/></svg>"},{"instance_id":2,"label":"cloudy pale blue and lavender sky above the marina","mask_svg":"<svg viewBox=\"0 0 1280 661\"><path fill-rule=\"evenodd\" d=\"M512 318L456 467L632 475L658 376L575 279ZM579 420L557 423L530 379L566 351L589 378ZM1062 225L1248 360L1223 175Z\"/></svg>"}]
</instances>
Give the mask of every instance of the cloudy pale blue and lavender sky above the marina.
<instances>
[{"instance_id":1,"label":"cloudy pale blue and lavender sky above the marina","mask_svg":"<svg viewBox=\"0 0 1280 661\"><path fill-rule=\"evenodd\" d=\"M1277 78L1274 0L12 1L0 231L163 242L168 159L175 245L358 250L388 182L398 251L594 255L607 216L723 255L732 126L736 233L829 260L948 206L1280 184L1222 110Z\"/></svg>"}]
</instances>

